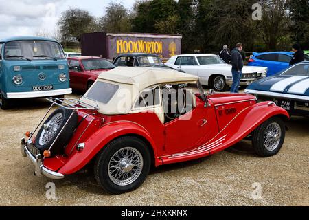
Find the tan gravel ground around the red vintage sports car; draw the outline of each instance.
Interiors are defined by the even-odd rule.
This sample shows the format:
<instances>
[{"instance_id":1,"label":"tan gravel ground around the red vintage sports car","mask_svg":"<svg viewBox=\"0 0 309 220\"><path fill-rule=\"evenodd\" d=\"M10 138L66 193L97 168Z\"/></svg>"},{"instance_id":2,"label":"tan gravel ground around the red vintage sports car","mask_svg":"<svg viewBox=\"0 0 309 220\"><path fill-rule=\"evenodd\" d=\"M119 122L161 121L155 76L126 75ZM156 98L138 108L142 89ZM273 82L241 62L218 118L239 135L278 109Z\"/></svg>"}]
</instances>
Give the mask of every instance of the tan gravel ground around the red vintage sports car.
<instances>
[{"instance_id":1,"label":"tan gravel ground around the red vintage sports car","mask_svg":"<svg viewBox=\"0 0 309 220\"><path fill-rule=\"evenodd\" d=\"M0 110L1 206L309 206L309 118L292 118L278 155L260 158L242 141L205 159L161 166L134 192L108 195L93 170L54 181L56 199L47 199L51 180L34 177L20 153L20 139L43 117L43 99ZM261 186L261 198L252 197ZM258 187L259 188L259 187Z\"/></svg>"}]
</instances>

